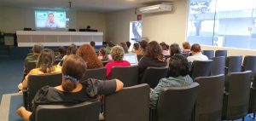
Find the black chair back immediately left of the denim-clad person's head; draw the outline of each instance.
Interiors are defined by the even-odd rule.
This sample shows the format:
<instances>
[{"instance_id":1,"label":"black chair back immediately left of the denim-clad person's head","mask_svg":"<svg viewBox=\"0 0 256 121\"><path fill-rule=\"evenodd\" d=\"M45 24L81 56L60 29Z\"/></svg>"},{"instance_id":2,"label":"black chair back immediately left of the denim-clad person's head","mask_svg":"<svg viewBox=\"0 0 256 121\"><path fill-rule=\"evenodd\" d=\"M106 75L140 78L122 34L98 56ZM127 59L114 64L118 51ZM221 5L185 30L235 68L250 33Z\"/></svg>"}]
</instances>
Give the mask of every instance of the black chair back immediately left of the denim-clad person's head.
<instances>
[{"instance_id":1,"label":"black chair back immediately left of the denim-clad person's head","mask_svg":"<svg viewBox=\"0 0 256 121\"><path fill-rule=\"evenodd\" d=\"M166 67L148 67L141 81L141 84L149 84L150 88L154 87L159 83L161 78L167 77L167 68Z\"/></svg>"}]
</instances>

